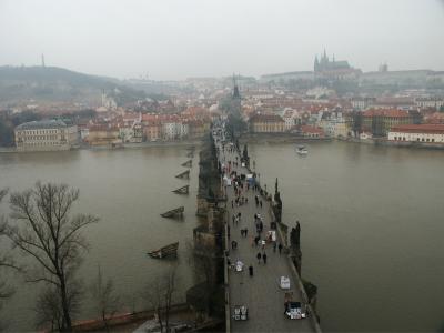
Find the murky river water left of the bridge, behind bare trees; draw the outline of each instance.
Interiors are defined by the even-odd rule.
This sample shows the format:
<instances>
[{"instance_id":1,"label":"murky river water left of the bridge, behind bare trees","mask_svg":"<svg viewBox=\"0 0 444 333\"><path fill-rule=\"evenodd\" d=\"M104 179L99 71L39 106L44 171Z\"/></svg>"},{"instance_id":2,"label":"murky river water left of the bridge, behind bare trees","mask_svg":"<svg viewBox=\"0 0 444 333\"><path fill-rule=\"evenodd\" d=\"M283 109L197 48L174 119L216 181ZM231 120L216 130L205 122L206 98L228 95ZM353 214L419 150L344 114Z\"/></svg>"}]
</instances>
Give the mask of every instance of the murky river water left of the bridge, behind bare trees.
<instances>
[{"instance_id":1,"label":"murky river water left of the bridge, behind bare trees","mask_svg":"<svg viewBox=\"0 0 444 333\"><path fill-rule=\"evenodd\" d=\"M83 230L91 245L79 274L85 282L87 295L88 284L97 276L100 264L102 274L113 279L123 311L131 311L133 306L147 309L150 304L141 297L145 284L171 263L150 259L145 254L148 250L179 240L178 290L181 292L176 296L184 301L183 292L192 285L188 243L196 226L198 150L191 180L174 178L186 170L180 167L189 160L186 153L185 147L152 147L0 154L0 188L19 191L41 180L65 182L80 189L75 210L100 216L98 224ZM185 184L190 184L189 195L171 192ZM3 201L1 213L7 214L8 199ZM159 215L180 205L185 206L183 221ZM9 320L10 331L34 327L33 309L41 287L17 283L16 295L1 312ZM81 315L95 316L88 296Z\"/></svg>"}]
</instances>

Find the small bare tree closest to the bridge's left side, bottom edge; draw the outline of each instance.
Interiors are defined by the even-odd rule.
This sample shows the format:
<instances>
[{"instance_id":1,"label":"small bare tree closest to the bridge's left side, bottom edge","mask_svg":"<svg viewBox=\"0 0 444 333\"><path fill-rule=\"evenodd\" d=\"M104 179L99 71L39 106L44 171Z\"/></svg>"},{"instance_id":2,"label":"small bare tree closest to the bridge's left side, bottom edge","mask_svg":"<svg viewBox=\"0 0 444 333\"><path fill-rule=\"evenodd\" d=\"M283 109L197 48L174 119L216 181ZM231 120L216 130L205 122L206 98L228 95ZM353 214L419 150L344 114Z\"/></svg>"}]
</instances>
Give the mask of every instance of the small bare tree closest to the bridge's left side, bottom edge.
<instances>
[{"instance_id":1,"label":"small bare tree closest to the bridge's left side, bottom edge","mask_svg":"<svg viewBox=\"0 0 444 333\"><path fill-rule=\"evenodd\" d=\"M170 332L170 311L176 284L176 265L147 284L144 297L155 311L161 332Z\"/></svg>"}]
</instances>

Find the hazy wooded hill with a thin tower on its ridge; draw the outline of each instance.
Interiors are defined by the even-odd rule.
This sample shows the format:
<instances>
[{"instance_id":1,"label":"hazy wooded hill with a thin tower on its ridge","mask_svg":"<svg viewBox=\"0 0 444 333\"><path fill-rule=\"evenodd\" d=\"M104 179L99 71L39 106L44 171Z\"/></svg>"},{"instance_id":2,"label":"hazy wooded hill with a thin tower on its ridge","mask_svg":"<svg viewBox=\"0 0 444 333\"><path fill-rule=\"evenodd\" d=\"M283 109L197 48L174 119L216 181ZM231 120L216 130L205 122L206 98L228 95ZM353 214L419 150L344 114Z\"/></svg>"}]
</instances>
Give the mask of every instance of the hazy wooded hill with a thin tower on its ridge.
<instances>
[{"instance_id":1,"label":"hazy wooded hill with a thin tower on its ridge","mask_svg":"<svg viewBox=\"0 0 444 333\"><path fill-rule=\"evenodd\" d=\"M144 98L144 93L119 80L73 72L56 67L0 67L0 105L36 102L99 104L101 92L118 104Z\"/></svg>"}]
</instances>

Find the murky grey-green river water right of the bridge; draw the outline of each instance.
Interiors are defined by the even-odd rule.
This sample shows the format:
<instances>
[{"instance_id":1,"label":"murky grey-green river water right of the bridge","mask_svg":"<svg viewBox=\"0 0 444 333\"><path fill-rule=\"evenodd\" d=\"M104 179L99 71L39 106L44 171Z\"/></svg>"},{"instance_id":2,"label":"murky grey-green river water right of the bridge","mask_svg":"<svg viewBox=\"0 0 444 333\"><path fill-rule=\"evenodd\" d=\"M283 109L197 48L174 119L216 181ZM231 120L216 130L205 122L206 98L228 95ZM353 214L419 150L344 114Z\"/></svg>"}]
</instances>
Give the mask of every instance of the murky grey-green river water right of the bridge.
<instances>
[{"instance_id":1,"label":"murky grey-green river water right of the bridge","mask_svg":"<svg viewBox=\"0 0 444 333\"><path fill-rule=\"evenodd\" d=\"M444 152L345 142L249 145L301 222L323 331L444 331Z\"/></svg>"}]
</instances>

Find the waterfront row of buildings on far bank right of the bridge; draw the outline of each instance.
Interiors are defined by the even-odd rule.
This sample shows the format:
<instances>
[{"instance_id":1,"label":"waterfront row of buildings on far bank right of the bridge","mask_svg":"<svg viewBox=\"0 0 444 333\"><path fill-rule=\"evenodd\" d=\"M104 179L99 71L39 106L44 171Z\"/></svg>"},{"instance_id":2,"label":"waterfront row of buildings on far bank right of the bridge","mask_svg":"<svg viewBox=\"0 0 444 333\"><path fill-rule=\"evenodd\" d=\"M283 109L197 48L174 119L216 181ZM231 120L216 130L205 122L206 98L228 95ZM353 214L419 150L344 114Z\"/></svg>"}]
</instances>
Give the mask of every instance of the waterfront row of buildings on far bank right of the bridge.
<instances>
[{"instance_id":1,"label":"waterfront row of buildings on far bank right of the bridge","mask_svg":"<svg viewBox=\"0 0 444 333\"><path fill-rule=\"evenodd\" d=\"M283 115L255 113L249 119L249 130L251 133L291 133L316 139L385 138L389 141L444 143L444 117L441 123L422 123L417 112L396 109L371 109L357 117L356 113L320 112L314 118L304 118L290 110Z\"/></svg>"}]
</instances>

